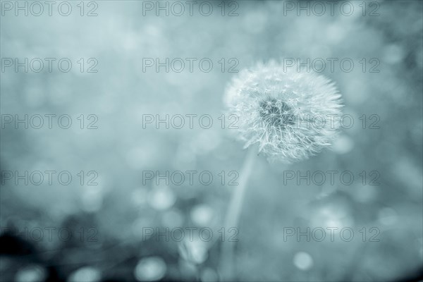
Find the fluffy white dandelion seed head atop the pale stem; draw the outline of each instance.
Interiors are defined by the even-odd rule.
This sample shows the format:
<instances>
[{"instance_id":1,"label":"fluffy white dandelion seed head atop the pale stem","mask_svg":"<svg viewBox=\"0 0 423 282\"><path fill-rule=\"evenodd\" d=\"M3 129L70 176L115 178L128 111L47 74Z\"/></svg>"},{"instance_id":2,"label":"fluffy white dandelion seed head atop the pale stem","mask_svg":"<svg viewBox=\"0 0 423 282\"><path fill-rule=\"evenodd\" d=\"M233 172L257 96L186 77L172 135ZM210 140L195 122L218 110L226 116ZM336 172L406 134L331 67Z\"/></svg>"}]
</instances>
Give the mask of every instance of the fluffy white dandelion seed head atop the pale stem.
<instances>
[{"instance_id":1,"label":"fluffy white dandelion seed head atop the pale stem","mask_svg":"<svg viewBox=\"0 0 423 282\"><path fill-rule=\"evenodd\" d=\"M224 97L238 117L245 147L258 144L269 161L300 161L329 147L338 132L341 94L331 80L276 62L258 64L233 78Z\"/></svg>"}]
</instances>

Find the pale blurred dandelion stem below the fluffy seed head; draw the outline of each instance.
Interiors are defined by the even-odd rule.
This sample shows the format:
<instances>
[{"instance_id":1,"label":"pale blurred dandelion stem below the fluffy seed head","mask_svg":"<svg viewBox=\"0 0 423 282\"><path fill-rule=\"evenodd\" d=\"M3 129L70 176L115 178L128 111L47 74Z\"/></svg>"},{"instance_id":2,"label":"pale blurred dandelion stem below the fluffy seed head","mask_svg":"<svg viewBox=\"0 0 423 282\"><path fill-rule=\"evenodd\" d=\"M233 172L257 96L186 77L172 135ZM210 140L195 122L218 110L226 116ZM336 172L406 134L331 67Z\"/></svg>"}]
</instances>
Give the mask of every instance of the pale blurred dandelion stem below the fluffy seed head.
<instances>
[{"instance_id":1,"label":"pale blurred dandelion stem below the fluffy seed head","mask_svg":"<svg viewBox=\"0 0 423 282\"><path fill-rule=\"evenodd\" d=\"M225 231L226 236L221 247L221 259L219 270L221 272L222 281L233 281L234 279L234 248L235 242L229 241L229 237L233 234L233 229L238 228L241 210L243 207L245 191L250 179L252 168L257 159L257 147L252 146L248 149L247 157L245 157L243 168L240 173L240 181L233 191L231 202L229 202L228 211L226 212Z\"/></svg>"}]
</instances>

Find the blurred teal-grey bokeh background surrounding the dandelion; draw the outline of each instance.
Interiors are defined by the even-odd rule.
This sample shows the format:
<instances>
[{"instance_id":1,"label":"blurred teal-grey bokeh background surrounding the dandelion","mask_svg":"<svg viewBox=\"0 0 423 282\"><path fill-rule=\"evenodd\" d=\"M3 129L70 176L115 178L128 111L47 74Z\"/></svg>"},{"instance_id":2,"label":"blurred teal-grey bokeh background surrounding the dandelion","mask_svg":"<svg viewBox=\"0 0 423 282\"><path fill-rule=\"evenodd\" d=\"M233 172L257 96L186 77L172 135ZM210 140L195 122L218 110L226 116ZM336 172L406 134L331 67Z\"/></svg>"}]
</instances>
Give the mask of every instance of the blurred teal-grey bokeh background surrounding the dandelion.
<instances>
[{"instance_id":1,"label":"blurred teal-grey bokeh background surrounding the dandelion","mask_svg":"<svg viewBox=\"0 0 423 282\"><path fill-rule=\"evenodd\" d=\"M422 279L421 1L334 1L331 13L326 2L322 12L309 1L197 0L192 16L185 1L176 4L183 13L174 1L61 3L50 16L47 4L41 12L1 1L1 281L220 281L228 173L240 175L246 156L230 121L221 126L223 94L237 71L286 58L326 61L321 74L336 82L354 125L307 161L257 157L235 234L235 280ZM156 69L166 58L168 72ZM196 59L192 71L186 58ZM338 59L333 69L329 58ZM143 123L157 114L208 114L214 125ZM157 185L145 171L214 179ZM338 174L318 185L286 171ZM348 185L343 171L354 176ZM328 227L338 228L333 240ZM185 238L157 238L166 228ZM200 228L212 240L199 240Z\"/></svg>"}]
</instances>

